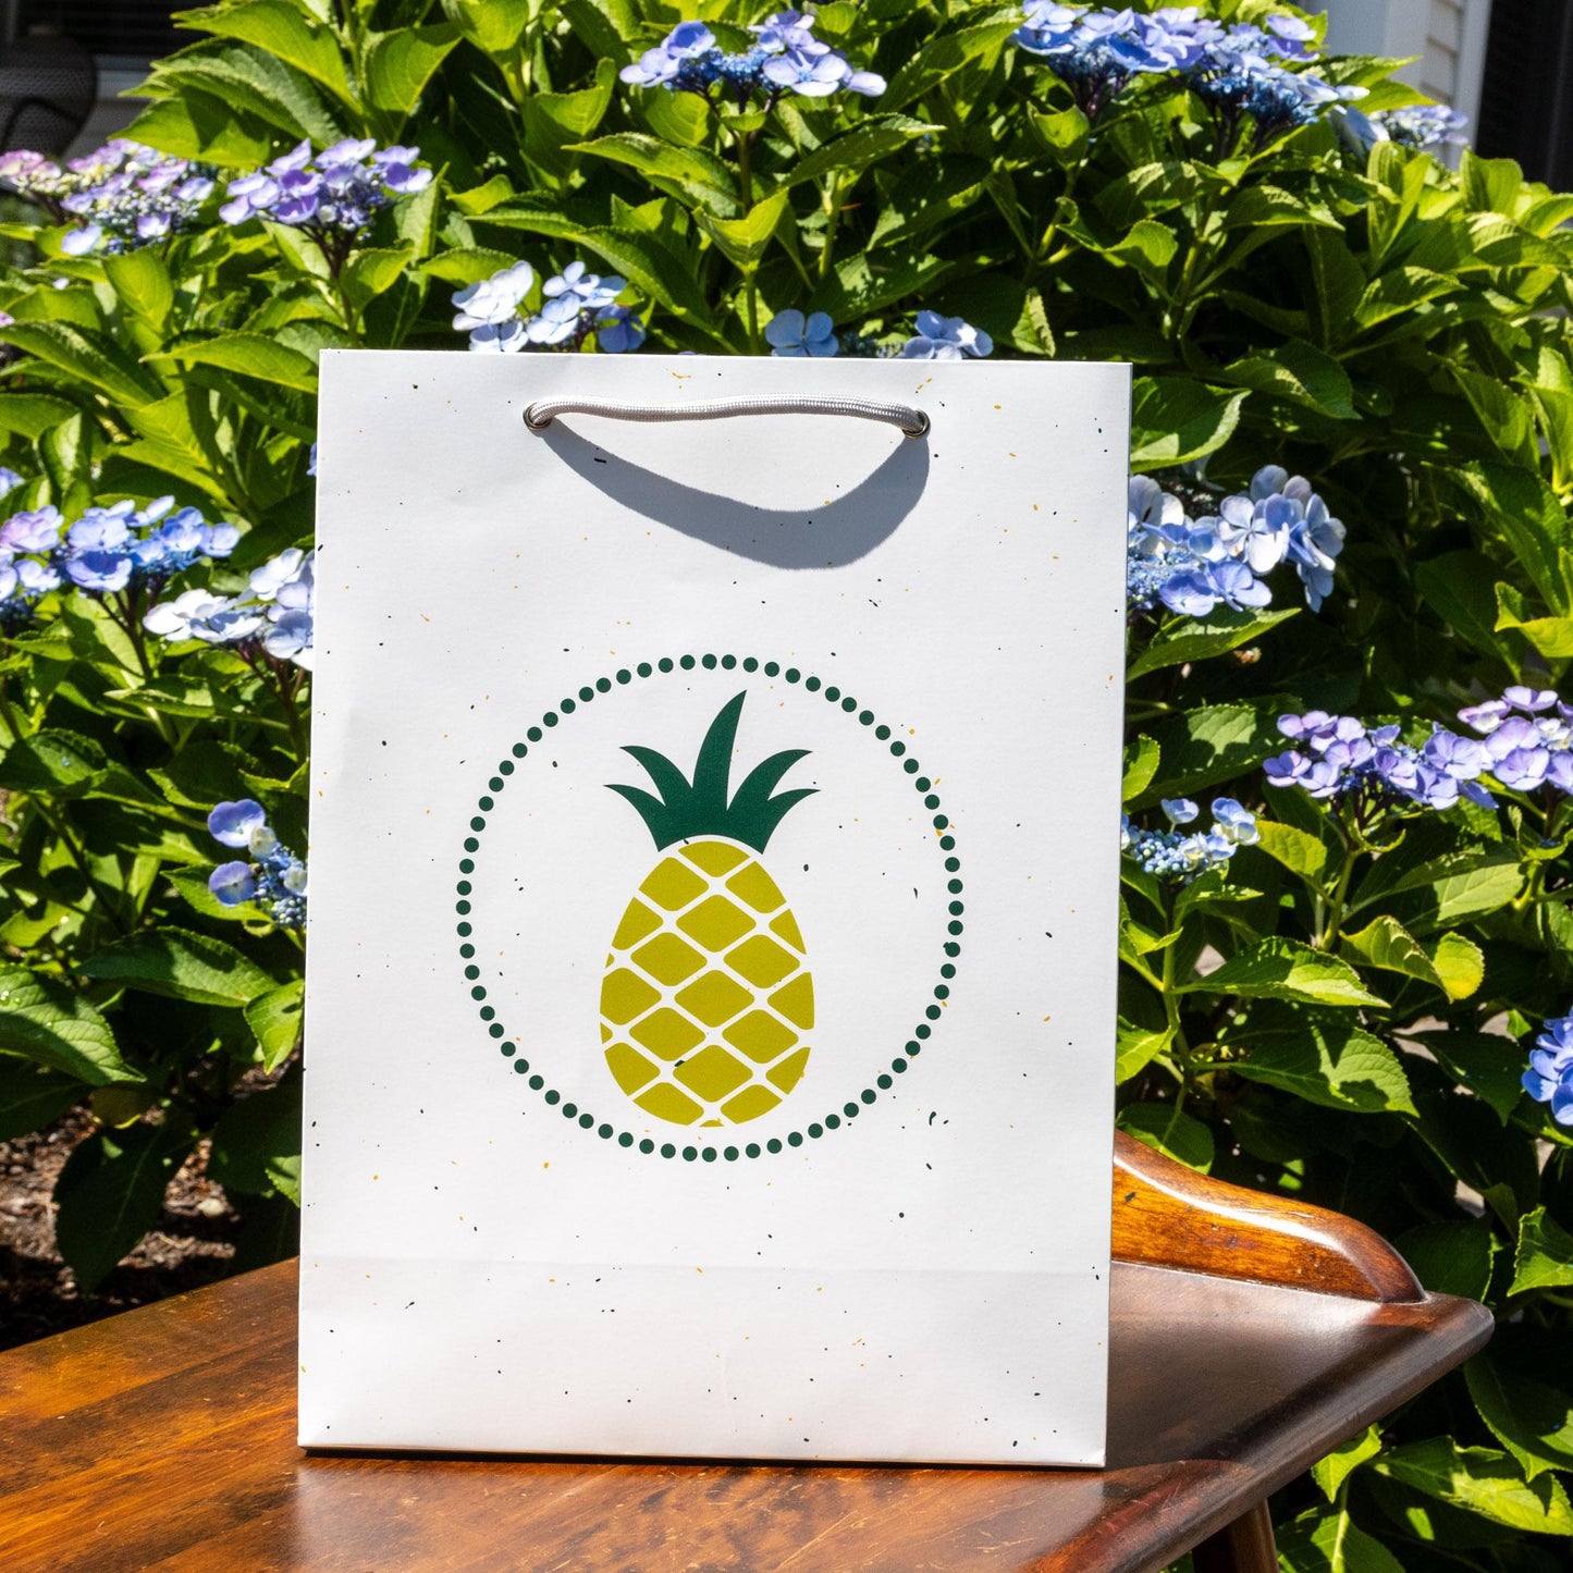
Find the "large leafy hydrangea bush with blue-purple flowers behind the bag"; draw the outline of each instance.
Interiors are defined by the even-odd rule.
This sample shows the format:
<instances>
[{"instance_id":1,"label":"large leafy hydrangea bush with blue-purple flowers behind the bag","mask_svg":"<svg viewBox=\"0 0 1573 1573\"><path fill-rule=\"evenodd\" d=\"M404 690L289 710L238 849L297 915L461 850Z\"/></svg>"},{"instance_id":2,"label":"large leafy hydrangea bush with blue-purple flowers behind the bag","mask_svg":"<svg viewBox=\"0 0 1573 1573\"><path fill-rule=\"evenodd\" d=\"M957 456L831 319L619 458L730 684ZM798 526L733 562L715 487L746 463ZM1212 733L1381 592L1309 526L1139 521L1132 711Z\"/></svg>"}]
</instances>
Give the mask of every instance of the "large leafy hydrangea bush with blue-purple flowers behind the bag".
<instances>
[{"instance_id":1,"label":"large leafy hydrangea bush with blue-purple flowers behind the bag","mask_svg":"<svg viewBox=\"0 0 1573 1573\"><path fill-rule=\"evenodd\" d=\"M1284 1565L1559 1567L1573 197L1273 0L184 25L0 162L0 1137L91 1098L79 1282L204 1137L288 1249L322 349L1120 359L1120 1123L1499 1312Z\"/></svg>"}]
</instances>

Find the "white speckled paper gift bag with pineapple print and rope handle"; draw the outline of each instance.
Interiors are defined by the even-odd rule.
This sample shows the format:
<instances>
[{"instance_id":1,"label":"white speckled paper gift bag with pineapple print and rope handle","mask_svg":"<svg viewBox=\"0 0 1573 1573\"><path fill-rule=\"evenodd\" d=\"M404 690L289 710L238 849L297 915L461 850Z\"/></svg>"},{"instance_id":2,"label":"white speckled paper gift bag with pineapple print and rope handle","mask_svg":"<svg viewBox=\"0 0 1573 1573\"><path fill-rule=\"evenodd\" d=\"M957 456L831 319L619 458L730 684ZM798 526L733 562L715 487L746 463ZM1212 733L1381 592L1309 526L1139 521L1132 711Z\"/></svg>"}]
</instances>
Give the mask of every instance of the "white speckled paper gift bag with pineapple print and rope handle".
<instances>
[{"instance_id":1,"label":"white speckled paper gift bag with pineapple print and rope handle","mask_svg":"<svg viewBox=\"0 0 1573 1573\"><path fill-rule=\"evenodd\" d=\"M1103 1460L1128 390L322 357L302 1444Z\"/></svg>"}]
</instances>

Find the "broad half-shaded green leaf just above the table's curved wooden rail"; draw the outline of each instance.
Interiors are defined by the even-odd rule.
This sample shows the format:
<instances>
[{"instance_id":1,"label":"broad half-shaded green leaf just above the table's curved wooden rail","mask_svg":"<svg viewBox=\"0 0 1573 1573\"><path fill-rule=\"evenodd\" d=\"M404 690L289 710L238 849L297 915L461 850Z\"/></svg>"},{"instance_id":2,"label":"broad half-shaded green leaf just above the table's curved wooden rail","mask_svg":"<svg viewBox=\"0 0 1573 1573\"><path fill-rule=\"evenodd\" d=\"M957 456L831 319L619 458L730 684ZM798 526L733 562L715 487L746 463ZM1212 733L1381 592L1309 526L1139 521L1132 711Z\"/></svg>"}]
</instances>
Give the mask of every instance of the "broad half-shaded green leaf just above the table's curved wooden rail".
<instances>
[{"instance_id":1,"label":"broad half-shaded green leaf just above the table's curved wooden rail","mask_svg":"<svg viewBox=\"0 0 1573 1573\"><path fill-rule=\"evenodd\" d=\"M1348 1018L1285 1013L1282 1026L1252 1022L1252 1030L1233 1041L1246 1057L1229 1068L1246 1081L1282 1087L1324 1109L1414 1114L1398 1055Z\"/></svg>"}]
</instances>

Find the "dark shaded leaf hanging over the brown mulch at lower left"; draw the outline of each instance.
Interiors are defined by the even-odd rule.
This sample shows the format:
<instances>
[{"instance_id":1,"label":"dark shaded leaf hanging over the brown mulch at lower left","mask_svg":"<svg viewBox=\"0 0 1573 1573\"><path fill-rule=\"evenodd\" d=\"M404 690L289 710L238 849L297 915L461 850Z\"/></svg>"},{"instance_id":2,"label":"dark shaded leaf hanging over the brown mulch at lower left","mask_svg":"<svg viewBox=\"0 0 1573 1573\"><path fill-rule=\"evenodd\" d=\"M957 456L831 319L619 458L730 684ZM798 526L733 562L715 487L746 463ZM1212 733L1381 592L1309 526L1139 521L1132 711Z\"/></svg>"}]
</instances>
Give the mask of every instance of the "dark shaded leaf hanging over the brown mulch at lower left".
<instances>
[{"instance_id":1,"label":"dark shaded leaf hanging over the brown mulch at lower left","mask_svg":"<svg viewBox=\"0 0 1573 1573\"><path fill-rule=\"evenodd\" d=\"M55 1244L91 1293L164 1211L164 1192L195 1145L181 1122L99 1129L77 1144L55 1181Z\"/></svg>"}]
</instances>

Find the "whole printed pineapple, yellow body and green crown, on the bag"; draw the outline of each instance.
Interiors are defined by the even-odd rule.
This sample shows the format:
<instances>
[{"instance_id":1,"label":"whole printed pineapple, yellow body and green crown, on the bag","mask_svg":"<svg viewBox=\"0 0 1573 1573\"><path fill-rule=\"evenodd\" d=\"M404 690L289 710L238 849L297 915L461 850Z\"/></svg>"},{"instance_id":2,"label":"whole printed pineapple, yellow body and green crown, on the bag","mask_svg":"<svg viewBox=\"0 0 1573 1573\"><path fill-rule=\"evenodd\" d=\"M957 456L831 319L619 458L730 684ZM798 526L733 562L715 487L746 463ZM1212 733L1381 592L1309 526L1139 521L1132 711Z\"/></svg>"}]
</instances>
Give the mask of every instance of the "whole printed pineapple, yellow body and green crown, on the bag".
<instances>
[{"instance_id":1,"label":"whole printed pineapple, yellow body and green crown, on the bag","mask_svg":"<svg viewBox=\"0 0 1573 1573\"><path fill-rule=\"evenodd\" d=\"M656 793L610 788L665 856L612 936L601 1043L618 1087L673 1125L741 1125L769 1114L809 1063L813 978L802 933L755 856L813 793L775 793L807 750L771 755L728 801L744 698L728 700L711 722L692 782L653 749L628 747Z\"/></svg>"}]
</instances>

